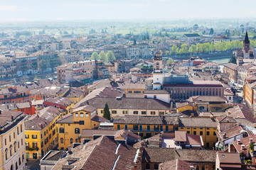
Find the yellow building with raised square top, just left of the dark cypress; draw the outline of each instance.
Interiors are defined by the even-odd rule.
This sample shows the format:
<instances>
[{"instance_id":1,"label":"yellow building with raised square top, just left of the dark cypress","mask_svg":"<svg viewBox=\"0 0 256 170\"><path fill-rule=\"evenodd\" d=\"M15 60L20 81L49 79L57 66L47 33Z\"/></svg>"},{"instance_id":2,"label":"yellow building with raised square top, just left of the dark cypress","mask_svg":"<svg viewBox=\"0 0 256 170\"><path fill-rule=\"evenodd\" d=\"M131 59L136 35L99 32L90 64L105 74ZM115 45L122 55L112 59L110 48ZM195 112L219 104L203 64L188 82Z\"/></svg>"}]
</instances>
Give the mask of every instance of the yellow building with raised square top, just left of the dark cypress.
<instances>
[{"instance_id":1,"label":"yellow building with raised square top, just left of the dark cypress","mask_svg":"<svg viewBox=\"0 0 256 170\"><path fill-rule=\"evenodd\" d=\"M96 115L96 110L92 106L75 108L73 113L63 116L56 122L59 149L67 149L73 142L80 142L79 135L83 129L97 128L105 121L107 121L105 118Z\"/></svg>"}]
</instances>

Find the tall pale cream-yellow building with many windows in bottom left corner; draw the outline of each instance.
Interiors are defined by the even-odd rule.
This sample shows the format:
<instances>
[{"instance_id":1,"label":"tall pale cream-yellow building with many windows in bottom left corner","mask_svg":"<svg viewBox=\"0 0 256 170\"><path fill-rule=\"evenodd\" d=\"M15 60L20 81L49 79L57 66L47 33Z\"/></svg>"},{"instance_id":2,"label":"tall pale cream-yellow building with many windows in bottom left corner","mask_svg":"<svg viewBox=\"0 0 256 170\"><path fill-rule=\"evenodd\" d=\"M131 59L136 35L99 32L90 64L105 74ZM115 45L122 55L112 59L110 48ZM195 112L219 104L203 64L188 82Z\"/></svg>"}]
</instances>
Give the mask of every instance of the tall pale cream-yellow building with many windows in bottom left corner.
<instances>
[{"instance_id":1,"label":"tall pale cream-yellow building with many windows in bottom left corner","mask_svg":"<svg viewBox=\"0 0 256 170\"><path fill-rule=\"evenodd\" d=\"M20 111L0 111L0 169L26 169L25 115Z\"/></svg>"}]
</instances>

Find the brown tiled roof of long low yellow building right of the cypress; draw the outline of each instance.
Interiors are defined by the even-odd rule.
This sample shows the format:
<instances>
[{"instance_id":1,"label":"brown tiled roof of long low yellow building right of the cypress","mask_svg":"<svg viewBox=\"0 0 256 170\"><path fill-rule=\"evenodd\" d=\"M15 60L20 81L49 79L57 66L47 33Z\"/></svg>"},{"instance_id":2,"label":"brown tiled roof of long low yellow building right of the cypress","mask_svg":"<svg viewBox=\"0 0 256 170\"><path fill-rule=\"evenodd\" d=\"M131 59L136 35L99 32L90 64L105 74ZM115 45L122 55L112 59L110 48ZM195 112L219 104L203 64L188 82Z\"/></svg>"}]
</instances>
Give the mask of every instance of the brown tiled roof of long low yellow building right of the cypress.
<instances>
[{"instance_id":1,"label":"brown tiled roof of long low yellow building right of the cypress","mask_svg":"<svg viewBox=\"0 0 256 170\"><path fill-rule=\"evenodd\" d=\"M124 115L115 116L113 122L134 125L178 125L178 119L174 116Z\"/></svg>"}]
</instances>

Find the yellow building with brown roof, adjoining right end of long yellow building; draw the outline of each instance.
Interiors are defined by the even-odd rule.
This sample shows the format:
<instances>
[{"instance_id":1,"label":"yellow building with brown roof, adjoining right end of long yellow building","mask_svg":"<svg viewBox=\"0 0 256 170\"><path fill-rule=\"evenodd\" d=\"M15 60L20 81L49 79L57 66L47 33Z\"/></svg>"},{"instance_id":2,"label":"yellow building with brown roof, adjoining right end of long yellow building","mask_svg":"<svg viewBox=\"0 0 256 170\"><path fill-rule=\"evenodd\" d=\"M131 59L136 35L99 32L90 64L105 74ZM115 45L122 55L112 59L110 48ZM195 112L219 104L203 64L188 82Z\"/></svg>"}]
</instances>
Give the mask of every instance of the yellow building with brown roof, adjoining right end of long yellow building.
<instances>
[{"instance_id":1,"label":"yellow building with brown roof, adjoining right end of long yellow building","mask_svg":"<svg viewBox=\"0 0 256 170\"><path fill-rule=\"evenodd\" d=\"M206 149L212 149L217 142L217 123L213 118L181 118L178 130L202 136Z\"/></svg>"}]
</instances>

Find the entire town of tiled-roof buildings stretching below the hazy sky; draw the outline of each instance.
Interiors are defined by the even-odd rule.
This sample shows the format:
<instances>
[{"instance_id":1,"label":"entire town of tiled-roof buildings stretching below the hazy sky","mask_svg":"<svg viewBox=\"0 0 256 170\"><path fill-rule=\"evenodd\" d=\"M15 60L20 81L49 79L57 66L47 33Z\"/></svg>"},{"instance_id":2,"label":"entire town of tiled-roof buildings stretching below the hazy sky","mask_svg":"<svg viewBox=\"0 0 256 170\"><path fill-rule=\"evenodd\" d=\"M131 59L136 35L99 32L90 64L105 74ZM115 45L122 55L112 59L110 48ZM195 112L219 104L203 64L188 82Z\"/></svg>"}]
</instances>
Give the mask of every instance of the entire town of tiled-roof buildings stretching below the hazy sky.
<instances>
[{"instance_id":1,"label":"entire town of tiled-roof buildings stretching below the hazy sky","mask_svg":"<svg viewBox=\"0 0 256 170\"><path fill-rule=\"evenodd\" d=\"M0 26L0 170L256 169L256 26L208 22Z\"/></svg>"}]
</instances>

